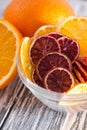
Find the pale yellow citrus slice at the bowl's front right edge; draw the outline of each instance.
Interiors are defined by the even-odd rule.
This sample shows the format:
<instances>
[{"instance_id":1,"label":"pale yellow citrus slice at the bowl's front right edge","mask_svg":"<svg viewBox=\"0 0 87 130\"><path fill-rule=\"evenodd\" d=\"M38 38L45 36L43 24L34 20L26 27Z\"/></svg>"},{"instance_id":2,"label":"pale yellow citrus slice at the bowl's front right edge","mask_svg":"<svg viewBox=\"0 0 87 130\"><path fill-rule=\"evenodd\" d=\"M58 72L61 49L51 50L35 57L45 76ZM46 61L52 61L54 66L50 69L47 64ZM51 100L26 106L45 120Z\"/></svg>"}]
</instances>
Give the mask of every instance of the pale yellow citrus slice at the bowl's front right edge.
<instances>
[{"instance_id":1,"label":"pale yellow citrus slice at the bowl's front right edge","mask_svg":"<svg viewBox=\"0 0 87 130\"><path fill-rule=\"evenodd\" d=\"M69 94L82 94L87 93L87 83L81 83L74 86L68 91Z\"/></svg>"}]
</instances>

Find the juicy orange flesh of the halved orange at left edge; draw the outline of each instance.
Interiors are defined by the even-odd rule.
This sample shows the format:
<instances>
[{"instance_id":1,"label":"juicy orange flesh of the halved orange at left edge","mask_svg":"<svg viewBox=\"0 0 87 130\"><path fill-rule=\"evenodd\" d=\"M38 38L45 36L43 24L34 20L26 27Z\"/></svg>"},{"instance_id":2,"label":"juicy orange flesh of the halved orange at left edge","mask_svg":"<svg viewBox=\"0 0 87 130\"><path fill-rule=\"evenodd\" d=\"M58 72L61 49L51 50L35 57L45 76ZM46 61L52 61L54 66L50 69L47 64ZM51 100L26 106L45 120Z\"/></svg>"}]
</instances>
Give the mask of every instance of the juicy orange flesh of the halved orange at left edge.
<instances>
[{"instance_id":1,"label":"juicy orange flesh of the halved orange at left edge","mask_svg":"<svg viewBox=\"0 0 87 130\"><path fill-rule=\"evenodd\" d=\"M16 53L15 42L16 38L12 32L8 31L3 24L0 24L0 80L8 74L13 64Z\"/></svg>"}]
</instances>

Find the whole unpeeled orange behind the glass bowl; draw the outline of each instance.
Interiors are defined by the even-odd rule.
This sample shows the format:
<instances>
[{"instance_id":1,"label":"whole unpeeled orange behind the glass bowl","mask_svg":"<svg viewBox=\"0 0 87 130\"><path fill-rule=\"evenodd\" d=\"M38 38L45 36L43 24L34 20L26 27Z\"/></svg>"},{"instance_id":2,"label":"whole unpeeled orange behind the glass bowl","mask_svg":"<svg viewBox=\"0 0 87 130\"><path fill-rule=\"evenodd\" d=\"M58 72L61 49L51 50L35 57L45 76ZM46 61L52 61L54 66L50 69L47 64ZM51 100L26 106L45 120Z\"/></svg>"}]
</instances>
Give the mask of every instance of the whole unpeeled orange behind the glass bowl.
<instances>
[{"instance_id":1,"label":"whole unpeeled orange behind the glass bowl","mask_svg":"<svg viewBox=\"0 0 87 130\"><path fill-rule=\"evenodd\" d=\"M67 0L12 0L4 17L31 37L40 26L57 25L70 15L74 11Z\"/></svg>"}]
</instances>

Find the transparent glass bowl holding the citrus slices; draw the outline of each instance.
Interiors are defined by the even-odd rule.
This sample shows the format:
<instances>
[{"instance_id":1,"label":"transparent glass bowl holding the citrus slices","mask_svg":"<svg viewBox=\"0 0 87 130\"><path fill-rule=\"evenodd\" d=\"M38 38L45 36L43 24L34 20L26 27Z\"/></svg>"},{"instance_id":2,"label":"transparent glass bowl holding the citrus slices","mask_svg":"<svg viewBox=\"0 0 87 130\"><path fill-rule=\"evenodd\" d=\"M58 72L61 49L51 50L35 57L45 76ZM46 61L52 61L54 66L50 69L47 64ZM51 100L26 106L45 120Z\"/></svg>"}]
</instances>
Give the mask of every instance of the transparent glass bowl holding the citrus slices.
<instances>
[{"instance_id":1,"label":"transparent glass bowl holding the citrus slices","mask_svg":"<svg viewBox=\"0 0 87 130\"><path fill-rule=\"evenodd\" d=\"M46 106L53 110L80 111L87 109L87 94L64 94L57 93L31 82L23 73L20 64L20 50L17 57L17 68L19 77L24 85Z\"/></svg>"}]
</instances>

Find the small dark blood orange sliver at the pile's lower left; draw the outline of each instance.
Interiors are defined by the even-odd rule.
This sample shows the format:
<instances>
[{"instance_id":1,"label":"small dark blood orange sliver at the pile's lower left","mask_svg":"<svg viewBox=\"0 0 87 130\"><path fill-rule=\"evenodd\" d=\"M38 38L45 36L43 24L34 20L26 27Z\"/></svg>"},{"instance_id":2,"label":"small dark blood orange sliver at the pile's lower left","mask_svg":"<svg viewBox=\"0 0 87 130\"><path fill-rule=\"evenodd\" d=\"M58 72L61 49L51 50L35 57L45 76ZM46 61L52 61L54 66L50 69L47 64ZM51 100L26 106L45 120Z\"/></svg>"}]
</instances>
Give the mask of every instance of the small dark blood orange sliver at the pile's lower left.
<instances>
[{"instance_id":1,"label":"small dark blood orange sliver at the pile's lower left","mask_svg":"<svg viewBox=\"0 0 87 130\"><path fill-rule=\"evenodd\" d=\"M36 83L37 85L39 85L40 87L44 87L43 81L39 78L36 70L34 70L33 72L33 82Z\"/></svg>"}]
</instances>

